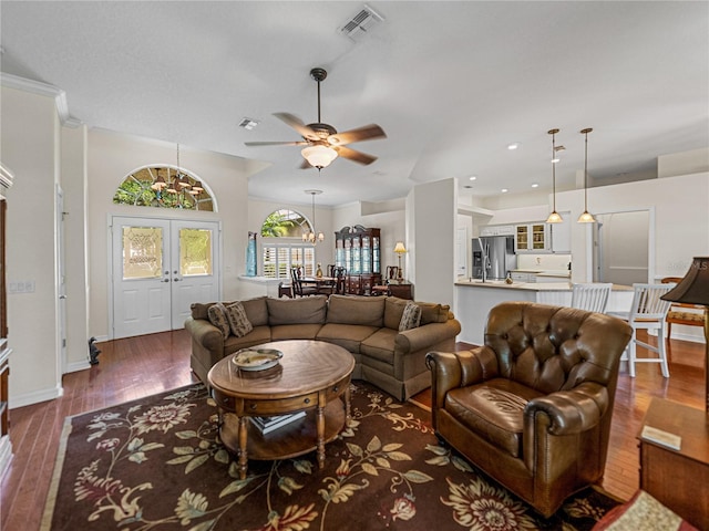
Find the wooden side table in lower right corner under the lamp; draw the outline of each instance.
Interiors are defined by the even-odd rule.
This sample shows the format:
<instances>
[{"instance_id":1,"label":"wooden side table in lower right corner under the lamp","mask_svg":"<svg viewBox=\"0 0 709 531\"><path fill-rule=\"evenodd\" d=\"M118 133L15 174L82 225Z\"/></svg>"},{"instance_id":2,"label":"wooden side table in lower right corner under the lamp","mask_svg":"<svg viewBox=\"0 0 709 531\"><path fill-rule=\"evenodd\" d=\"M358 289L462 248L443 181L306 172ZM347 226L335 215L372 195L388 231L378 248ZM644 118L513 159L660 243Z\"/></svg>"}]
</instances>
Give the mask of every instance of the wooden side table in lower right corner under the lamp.
<instances>
[{"instance_id":1,"label":"wooden side table in lower right corner under the lamp","mask_svg":"<svg viewBox=\"0 0 709 531\"><path fill-rule=\"evenodd\" d=\"M702 409L653 398L640 434L651 426L681 437L674 450L638 435L640 489L692 525L709 529L709 416Z\"/></svg>"}]
</instances>

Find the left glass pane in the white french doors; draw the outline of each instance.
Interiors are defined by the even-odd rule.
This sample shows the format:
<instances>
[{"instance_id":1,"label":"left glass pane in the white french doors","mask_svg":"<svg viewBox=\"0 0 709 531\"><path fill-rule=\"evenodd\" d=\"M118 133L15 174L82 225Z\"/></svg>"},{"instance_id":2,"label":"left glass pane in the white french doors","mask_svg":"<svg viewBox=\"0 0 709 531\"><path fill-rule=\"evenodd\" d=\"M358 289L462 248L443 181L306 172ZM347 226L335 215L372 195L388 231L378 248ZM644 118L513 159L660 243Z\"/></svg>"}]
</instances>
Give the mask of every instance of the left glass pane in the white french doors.
<instances>
[{"instance_id":1,"label":"left glass pane in the white french doors","mask_svg":"<svg viewBox=\"0 0 709 531\"><path fill-rule=\"evenodd\" d=\"M163 229L123 227L123 279L154 279L163 270Z\"/></svg>"}]
</instances>

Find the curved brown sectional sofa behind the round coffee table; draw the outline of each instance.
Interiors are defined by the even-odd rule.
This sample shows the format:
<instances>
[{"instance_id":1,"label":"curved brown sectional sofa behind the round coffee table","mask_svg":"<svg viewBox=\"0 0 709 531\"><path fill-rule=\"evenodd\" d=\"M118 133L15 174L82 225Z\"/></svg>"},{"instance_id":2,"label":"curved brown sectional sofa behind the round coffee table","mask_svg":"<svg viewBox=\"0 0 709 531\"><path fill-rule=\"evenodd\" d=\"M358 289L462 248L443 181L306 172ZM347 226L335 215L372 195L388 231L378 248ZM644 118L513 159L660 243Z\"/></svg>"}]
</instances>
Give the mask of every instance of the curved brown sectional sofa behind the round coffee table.
<instances>
[{"instance_id":1,"label":"curved brown sectional sofa behind the round coffee table","mask_svg":"<svg viewBox=\"0 0 709 531\"><path fill-rule=\"evenodd\" d=\"M263 296L240 302L253 330L226 340L209 322L208 309L214 303L192 305L192 317L185 322L192 336L191 366L205 383L209 368L239 348L269 341L317 340L352 353L352 379L364 379L405 400L431 385L427 353L454 350L461 331L446 305L417 302L420 325L399 332L409 301L395 296Z\"/></svg>"}]
</instances>

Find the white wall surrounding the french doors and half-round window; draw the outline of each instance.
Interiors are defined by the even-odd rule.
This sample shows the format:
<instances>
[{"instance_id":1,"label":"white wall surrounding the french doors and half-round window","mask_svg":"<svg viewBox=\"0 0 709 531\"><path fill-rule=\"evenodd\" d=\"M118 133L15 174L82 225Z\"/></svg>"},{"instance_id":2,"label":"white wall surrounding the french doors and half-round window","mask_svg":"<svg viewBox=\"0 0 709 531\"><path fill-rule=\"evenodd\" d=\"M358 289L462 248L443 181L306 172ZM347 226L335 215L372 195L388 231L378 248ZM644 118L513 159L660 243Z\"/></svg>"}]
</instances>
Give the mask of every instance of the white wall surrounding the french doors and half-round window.
<instances>
[{"instance_id":1,"label":"white wall surrounding the french doors and half-round window","mask_svg":"<svg viewBox=\"0 0 709 531\"><path fill-rule=\"evenodd\" d=\"M103 129L89 132L89 241L90 241L90 333L111 337L109 305L109 220L110 216L141 216L218 220L222 222L222 264L224 300L239 298L238 275L246 271L248 239L248 177L263 167L212 152L179 146L181 167L195 176L212 194L216 212L114 205L113 195L123 179L136 168L175 165L176 145Z\"/></svg>"}]
</instances>

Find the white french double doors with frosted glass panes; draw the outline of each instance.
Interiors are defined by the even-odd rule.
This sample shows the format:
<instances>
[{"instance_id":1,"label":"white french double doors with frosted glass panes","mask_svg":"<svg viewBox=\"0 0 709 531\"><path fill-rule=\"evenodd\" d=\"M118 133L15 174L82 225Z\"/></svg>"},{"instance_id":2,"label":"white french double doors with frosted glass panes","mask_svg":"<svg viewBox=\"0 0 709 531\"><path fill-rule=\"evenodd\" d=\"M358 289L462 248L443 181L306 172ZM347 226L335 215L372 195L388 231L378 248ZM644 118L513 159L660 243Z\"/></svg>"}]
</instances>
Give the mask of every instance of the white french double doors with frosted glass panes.
<instances>
[{"instance_id":1,"label":"white french double doors with frosted glass panes","mask_svg":"<svg viewBox=\"0 0 709 531\"><path fill-rule=\"evenodd\" d=\"M182 329L219 295L218 223L114 217L113 337Z\"/></svg>"}]
</instances>

